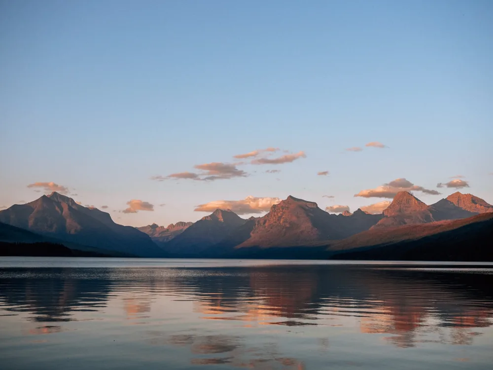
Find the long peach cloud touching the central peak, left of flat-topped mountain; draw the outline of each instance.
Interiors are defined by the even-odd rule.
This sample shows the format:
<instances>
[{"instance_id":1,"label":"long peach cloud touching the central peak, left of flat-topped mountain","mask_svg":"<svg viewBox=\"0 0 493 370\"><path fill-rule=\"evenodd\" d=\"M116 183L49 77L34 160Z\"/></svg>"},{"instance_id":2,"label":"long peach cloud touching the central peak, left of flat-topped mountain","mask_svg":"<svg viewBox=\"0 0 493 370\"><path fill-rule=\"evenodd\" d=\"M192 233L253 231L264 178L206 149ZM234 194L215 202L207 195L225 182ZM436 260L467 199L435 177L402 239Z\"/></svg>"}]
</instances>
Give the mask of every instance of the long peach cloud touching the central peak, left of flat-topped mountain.
<instances>
[{"instance_id":1,"label":"long peach cloud touching the central peak, left of flat-topped mountain","mask_svg":"<svg viewBox=\"0 0 493 370\"><path fill-rule=\"evenodd\" d=\"M216 200L200 204L195 208L197 212L214 212L216 209L230 209L238 215L249 215L269 211L272 205L281 202L279 198L247 196L242 200Z\"/></svg>"}]
</instances>

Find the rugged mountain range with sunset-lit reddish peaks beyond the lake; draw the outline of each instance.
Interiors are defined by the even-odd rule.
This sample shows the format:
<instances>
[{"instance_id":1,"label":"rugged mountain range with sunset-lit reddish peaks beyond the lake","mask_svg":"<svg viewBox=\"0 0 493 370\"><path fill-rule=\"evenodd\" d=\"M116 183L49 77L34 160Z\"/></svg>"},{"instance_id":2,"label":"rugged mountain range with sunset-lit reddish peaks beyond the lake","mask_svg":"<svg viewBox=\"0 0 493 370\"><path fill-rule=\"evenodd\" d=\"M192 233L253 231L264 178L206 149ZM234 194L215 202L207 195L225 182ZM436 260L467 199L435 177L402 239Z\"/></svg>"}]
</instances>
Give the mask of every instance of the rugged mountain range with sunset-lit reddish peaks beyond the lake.
<instances>
[{"instance_id":1,"label":"rugged mountain range with sunset-lit reddish peaks beyond the lake","mask_svg":"<svg viewBox=\"0 0 493 370\"><path fill-rule=\"evenodd\" d=\"M483 246L493 243L492 215L493 206L471 194L456 192L426 205L402 191L379 215L361 209L329 214L315 202L288 196L262 217L245 220L231 210L217 209L197 222L134 228L53 192L0 211L0 222L29 230L40 242L62 243L71 250L85 248L100 255L323 259L419 259L423 255L451 259L462 255L447 251L443 243L453 242L460 251L457 239L461 245L472 243L479 248L475 258L488 259ZM12 235L3 241L22 242L18 230Z\"/></svg>"}]
</instances>

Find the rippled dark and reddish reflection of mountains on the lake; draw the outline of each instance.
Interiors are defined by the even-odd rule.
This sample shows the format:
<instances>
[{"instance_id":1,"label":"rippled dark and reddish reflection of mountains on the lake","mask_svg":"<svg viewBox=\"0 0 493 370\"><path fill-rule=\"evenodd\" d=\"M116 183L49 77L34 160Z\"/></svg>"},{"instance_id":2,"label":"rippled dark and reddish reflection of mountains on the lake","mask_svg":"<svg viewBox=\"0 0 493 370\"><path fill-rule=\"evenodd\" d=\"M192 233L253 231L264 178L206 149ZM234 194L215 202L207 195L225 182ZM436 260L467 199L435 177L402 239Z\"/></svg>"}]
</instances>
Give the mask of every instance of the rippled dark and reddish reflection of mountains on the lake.
<instances>
[{"instance_id":1,"label":"rippled dark and reddish reflection of mountains on the lake","mask_svg":"<svg viewBox=\"0 0 493 370\"><path fill-rule=\"evenodd\" d=\"M64 322L82 320L83 313L114 315L115 302L123 318L133 321L166 318L173 304L191 302L189 311L178 308L175 316L187 320L198 314L203 325L222 320L243 328L238 333L265 325L286 331L291 329L282 326L349 327L361 335L382 334L403 348L426 342L469 345L480 328L492 325L493 275L355 265L10 268L0 275L0 309L23 313L24 321L58 323L37 325L33 334L62 332ZM320 347L329 347L330 333L319 339ZM148 336L151 345L188 348L195 365L304 367L276 348L246 344L242 335L150 331ZM252 353L256 358L240 360ZM204 354L221 356L199 356Z\"/></svg>"}]
</instances>

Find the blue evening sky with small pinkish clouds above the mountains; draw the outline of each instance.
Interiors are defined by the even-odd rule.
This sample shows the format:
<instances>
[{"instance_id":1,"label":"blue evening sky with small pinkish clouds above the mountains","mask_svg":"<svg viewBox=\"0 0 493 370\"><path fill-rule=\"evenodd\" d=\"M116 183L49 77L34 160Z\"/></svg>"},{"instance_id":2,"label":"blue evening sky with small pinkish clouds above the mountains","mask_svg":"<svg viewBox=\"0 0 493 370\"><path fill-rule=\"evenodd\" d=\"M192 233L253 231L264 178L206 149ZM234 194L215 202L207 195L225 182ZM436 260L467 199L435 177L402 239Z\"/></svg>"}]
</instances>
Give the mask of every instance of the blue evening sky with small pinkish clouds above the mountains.
<instances>
[{"instance_id":1,"label":"blue evening sky with small pinkish clouds above the mountains","mask_svg":"<svg viewBox=\"0 0 493 370\"><path fill-rule=\"evenodd\" d=\"M141 226L288 195L493 203L492 19L489 0L0 0L0 207L57 190Z\"/></svg>"}]
</instances>

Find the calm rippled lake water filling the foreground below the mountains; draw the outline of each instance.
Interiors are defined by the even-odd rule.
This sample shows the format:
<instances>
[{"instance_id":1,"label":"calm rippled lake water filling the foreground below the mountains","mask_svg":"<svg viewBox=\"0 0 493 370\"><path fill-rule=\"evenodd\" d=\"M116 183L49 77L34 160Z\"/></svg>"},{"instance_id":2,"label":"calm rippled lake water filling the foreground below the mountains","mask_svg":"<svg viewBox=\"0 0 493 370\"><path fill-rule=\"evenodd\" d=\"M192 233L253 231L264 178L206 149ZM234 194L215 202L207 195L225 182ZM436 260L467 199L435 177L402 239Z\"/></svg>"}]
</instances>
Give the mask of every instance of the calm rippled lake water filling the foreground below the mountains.
<instances>
[{"instance_id":1,"label":"calm rippled lake water filling the foreground below the mountains","mask_svg":"<svg viewBox=\"0 0 493 370\"><path fill-rule=\"evenodd\" d=\"M1 369L492 369L493 265L0 258Z\"/></svg>"}]
</instances>

